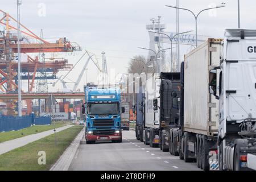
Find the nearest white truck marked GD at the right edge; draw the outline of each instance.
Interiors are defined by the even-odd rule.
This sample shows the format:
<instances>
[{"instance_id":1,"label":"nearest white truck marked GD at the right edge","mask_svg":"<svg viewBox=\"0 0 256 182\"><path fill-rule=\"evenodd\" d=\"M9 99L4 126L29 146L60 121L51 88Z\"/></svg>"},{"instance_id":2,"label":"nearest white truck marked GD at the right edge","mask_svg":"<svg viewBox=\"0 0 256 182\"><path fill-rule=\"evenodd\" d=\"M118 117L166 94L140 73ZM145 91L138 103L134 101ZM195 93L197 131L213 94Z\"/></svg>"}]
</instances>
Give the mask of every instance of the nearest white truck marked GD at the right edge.
<instances>
[{"instance_id":1,"label":"nearest white truck marked GD at the right edge","mask_svg":"<svg viewBox=\"0 0 256 182\"><path fill-rule=\"evenodd\" d=\"M209 71L209 92L219 100L218 164L256 169L256 30L226 30L222 50Z\"/></svg>"}]
</instances>

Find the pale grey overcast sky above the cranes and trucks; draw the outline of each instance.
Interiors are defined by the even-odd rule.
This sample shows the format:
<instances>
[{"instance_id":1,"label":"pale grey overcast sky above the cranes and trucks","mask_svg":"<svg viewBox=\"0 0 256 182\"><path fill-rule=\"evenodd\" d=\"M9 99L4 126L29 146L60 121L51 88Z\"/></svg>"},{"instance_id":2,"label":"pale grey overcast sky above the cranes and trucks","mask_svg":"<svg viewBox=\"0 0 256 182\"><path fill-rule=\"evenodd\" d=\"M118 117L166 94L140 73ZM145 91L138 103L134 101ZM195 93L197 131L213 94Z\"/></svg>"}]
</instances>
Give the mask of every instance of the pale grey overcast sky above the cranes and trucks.
<instances>
[{"instance_id":1,"label":"pale grey overcast sky above the cranes and trucks","mask_svg":"<svg viewBox=\"0 0 256 182\"><path fill-rule=\"evenodd\" d=\"M216 16L212 16L212 12L204 12L199 17L198 33L213 38L222 38L225 28L237 28L237 0L179 1L180 7L195 12L209 7L212 3L220 5L222 2L225 2L227 7L218 9ZM256 29L256 2L240 2L241 27ZM15 3L16 0L1 0L1 9L16 18ZM175 3L175 0L23 0L20 13L21 22L35 34L40 35L40 29L43 28L44 38L55 41L67 37L99 58L104 51L109 69L127 72L127 63L131 57L147 56L147 51L137 47L148 47L149 39L145 26L151 24L151 18L162 16L161 21L167 25L167 31L176 31L176 11L164 6ZM46 6L45 16L39 16L42 13L42 5ZM180 31L187 30L195 30L195 20L189 12L181 10ZM68 57L69 63L75 64L82 53L83 51L72 56L67 53L59 55ZM76 80L83 64L81 63L69 78ZM96 67L90 63L88 68L87 81L96 82ZM85 76L80 84L81 89L84 84Z\"/></svg>"}]
</instances>

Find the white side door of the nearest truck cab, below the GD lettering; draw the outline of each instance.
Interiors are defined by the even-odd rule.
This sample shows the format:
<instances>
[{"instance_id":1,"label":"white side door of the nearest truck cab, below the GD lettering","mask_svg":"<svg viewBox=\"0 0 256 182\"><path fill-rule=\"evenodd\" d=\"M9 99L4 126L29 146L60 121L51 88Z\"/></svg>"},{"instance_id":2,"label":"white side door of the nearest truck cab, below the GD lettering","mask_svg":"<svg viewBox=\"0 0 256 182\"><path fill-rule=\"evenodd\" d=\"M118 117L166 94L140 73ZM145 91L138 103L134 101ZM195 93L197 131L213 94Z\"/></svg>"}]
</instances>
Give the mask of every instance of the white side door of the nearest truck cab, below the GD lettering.
<instances>
[{"instance_id":1,"label":"white side door of the nearest truck cab, below the GD lettering","mask_svg":"<svg viewBox=\"0 0 256 182\"><path fill-rule=\"evenodd\" d=\"M256 117L256 63L226 63L226 103L228 121Z\"/></svg>"}]
</instances>

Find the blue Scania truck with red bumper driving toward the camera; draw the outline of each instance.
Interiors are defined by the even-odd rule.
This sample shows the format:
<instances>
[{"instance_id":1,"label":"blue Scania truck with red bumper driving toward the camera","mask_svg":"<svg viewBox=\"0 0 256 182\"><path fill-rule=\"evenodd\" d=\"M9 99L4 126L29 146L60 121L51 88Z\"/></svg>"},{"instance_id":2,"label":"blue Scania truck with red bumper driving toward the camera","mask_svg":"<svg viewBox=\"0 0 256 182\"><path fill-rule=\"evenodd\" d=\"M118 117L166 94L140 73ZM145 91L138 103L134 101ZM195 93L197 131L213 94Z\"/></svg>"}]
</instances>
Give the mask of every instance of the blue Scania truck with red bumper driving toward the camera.
<instances>
[{"instance_id":1,"label":"blue Scania truck with red bumper driving toward the camera","mask_svg":"<svg viewBox=\"0 0 256 182\"><path fill-rule=\"evenodd\" d=\"M98 140L122 142L120 89L117 87L85 86L85 103L82 105L86 128L86 144Z\"/></svg>"}]
</instances>

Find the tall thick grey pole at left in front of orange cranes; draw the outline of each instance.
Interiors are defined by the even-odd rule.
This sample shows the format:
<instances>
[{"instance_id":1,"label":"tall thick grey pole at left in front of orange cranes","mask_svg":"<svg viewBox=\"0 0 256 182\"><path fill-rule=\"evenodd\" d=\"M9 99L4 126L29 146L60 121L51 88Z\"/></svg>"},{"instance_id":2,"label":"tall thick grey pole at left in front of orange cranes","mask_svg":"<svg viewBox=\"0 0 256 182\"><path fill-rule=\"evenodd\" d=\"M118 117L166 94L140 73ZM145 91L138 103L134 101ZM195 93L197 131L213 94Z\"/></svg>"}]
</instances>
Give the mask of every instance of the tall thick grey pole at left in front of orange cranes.
<instances>
[{"instance_id":1,"label":"tall thick grey pole at left in front of orange cranes","mask_svg":"<svg viewBox=\"0 0 256 182\"><path fill-rule=\"evenodd\" d=\"M20 80L20 11L19 5L22 3L20 0L17 0L17 31L18 31L18 115L22 116L22 98L21 98L21 89L22 84Z\"/></svg>"}]
</instances>

